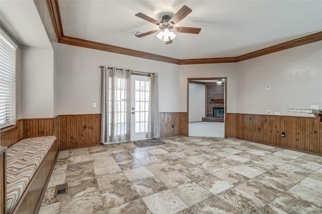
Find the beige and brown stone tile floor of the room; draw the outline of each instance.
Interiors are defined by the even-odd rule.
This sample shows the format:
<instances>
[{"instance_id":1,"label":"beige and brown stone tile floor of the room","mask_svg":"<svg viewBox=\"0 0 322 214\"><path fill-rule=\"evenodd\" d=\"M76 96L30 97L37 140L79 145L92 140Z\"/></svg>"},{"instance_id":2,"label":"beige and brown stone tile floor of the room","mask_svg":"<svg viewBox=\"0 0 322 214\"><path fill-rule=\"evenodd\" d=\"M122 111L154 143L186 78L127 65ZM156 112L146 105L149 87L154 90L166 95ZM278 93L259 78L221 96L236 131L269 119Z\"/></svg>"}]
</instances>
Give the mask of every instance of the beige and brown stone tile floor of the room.
<instances>
[{"instance_id":1,"label":"beige and brown stone tile floor of the room","mask_svg":"<svg viewBox=\"0 0 322 214\"><path fill-rule=\"evenodd\" d=\"M39 213L322 213L322 156L168 137L60 151ZM68 193L54 196L68 182Z\"/></svg>"}]
</instances>

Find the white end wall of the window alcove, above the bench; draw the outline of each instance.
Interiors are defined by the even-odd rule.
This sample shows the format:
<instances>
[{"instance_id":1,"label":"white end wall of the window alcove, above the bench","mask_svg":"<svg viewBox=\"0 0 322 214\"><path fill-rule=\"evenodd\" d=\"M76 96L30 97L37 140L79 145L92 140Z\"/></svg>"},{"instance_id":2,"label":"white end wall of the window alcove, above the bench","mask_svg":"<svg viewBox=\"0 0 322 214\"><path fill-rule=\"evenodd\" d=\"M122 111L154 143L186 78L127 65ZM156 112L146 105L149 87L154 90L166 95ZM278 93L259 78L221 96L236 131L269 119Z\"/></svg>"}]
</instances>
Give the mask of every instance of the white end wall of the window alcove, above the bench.
<instances>
[{"instance_id":1,"label":"white end wall of the window alcove, above the bench","mask_svg":"<svg viewBox=\"0 0 322 214\"><path fill-rule=\"evenodd\" d=\"M21 118L46 118L54 114L54 52L21 49Z\"/></svg>"}]
</instances>

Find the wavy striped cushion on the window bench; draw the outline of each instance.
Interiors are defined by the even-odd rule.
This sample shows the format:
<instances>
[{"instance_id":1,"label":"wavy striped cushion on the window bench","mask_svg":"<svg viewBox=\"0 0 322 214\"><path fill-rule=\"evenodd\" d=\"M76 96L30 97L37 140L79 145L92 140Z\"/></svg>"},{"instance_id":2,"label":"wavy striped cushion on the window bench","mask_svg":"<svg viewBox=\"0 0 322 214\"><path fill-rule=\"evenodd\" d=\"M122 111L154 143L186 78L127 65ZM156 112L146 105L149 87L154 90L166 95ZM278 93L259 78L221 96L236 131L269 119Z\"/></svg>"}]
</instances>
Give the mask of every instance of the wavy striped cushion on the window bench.
<instances>
[{"instance_id":1,"label":"wavy striped cushion on the window bench","mask_svg":"<svg viewBox=\"0 0 322 214\"><path fill-rule=\"evenodd\" d=\"M7 212L15 206L55 140L55 136L32 137L8 148Z\"/></svg>"}]
</instances>

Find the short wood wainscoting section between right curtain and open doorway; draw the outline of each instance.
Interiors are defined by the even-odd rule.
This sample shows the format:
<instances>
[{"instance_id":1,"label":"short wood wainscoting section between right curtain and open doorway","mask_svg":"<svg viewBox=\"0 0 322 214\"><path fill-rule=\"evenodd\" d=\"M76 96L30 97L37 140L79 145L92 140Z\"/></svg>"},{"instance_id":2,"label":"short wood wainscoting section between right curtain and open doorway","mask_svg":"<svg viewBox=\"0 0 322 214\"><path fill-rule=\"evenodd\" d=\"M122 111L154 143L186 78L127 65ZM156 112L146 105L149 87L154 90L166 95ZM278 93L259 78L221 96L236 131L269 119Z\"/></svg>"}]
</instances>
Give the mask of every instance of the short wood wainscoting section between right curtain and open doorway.
<instances>
[{"instance_id":1,"label":"short wood wainscoting section between right curtain and open doorway","mask_svg":"<svg viewBox=\"0 0 322 214\"><path fill-rule=\"evenodd\" d=\"M179 135L180 116L179 112L159 113L160 137ZM172 125L174 126L172 128Z\"/></svg>"}]
</instances>

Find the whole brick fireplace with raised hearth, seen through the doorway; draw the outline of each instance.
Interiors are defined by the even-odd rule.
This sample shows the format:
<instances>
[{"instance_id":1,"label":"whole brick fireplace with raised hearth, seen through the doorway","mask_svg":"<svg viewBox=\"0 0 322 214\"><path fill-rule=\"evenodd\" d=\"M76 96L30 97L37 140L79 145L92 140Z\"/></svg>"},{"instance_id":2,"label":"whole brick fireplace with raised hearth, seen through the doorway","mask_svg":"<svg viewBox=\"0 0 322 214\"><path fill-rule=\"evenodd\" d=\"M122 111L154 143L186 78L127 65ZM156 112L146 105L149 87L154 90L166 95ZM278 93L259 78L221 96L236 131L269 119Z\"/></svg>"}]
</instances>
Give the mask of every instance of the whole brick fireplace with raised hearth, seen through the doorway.
<instances>
[{"instance_id":1,"label":"whole brick fireplace with raised hearth, seen through the doorway","mask_svg":"<svg viewBox=\"0 0 322 214\"><path fill-rule=\"evenodd\" d=\"M214 109L223 109L224 104L224 85L206 85L206 117L202 118L205 122L223 122L223 117L214 117Z\"/></svg>"}]
</instances>

